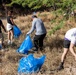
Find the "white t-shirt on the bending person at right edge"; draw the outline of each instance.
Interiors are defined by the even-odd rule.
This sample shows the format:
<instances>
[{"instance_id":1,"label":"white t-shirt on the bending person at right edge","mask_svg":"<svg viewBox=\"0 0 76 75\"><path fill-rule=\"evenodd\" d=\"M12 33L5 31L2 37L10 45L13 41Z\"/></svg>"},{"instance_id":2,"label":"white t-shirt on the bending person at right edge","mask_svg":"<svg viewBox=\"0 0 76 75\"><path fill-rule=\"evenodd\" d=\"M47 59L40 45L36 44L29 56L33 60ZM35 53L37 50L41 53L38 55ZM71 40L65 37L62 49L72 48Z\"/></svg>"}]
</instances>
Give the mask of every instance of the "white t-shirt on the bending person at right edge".
<instances>
[{"instance_id":1,"label":"white t-shirt on the bending person at right edge","mask_svg":"<svg viewBox=\"0 0 76 75\"><path fill-rule=\"evenodd\" d=\"M65 38L71 41L71 43L76 44L76 28L68 30L65 34Z\"/></svg>"}]
</instances>

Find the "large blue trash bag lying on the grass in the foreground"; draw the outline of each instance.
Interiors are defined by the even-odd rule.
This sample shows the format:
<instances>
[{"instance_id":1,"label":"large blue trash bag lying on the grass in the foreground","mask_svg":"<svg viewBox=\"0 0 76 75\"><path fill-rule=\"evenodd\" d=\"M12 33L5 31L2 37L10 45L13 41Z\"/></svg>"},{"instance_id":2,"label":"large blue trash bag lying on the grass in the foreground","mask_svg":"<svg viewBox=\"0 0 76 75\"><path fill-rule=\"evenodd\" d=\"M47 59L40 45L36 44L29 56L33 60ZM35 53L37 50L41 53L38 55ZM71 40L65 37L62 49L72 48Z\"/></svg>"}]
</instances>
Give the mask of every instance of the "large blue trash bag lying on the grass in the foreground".
<instances>
[{"instance_id":1,"label":"large blue trash bag lying on the grass in the foreground","mask_svg":"<svg viewBox=\"0 0 76 75\"><path fill-rule=\"evenodd\" d=\"M34 58L33 54L29 54L27 57L22 57L19 61L18 73L19 74L32 74L40 71L44 64L46 55L40 58Z\"/></svg>"}]
</instances>

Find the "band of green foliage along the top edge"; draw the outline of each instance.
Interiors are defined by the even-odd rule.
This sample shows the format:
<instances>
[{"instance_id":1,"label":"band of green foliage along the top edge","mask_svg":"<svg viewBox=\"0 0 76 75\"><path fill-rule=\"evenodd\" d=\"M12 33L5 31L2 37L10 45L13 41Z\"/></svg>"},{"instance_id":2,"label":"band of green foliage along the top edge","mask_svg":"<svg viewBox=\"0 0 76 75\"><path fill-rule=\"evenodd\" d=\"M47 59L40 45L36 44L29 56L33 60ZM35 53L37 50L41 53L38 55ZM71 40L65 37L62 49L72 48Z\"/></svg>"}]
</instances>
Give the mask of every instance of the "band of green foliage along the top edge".
<instances>
[{"instance_id":1,"label":"band of green foliage along the top edge","mask_svg":"<svg viewBox=\"0 0 76 75\"><path fill-rule=\"evenodd\" d=\"M43 7L54 7L57 9L65 9L70 7L71 9L76 9L76 0L11 0L11 3L7 5L12 6L14 4L20 5L24 8L27 6L34 10Z\"/></svg>"}]
</instances>

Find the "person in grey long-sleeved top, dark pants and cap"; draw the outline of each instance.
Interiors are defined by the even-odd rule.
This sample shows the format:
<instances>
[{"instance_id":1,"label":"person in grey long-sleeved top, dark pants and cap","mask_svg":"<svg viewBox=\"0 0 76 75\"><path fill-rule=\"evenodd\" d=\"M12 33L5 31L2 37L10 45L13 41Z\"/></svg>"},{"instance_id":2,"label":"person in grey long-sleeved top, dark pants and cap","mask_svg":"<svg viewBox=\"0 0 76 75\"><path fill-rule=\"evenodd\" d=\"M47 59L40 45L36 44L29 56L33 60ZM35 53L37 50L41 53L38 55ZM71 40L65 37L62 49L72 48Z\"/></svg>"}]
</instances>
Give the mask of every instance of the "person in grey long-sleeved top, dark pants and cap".
<instances>
[{"instance_id":1,"label":"person in grey long-sleeved top, dark pants and cap","mask_svg":"<svg viewBox=\"0 0 76 75\"><path fill-rule=\"evenodd\" d=\"M43 40L46 36L46 28L42 20L37 18L36 15L32 16L32 20L31 30L27 34L31 34L34 30L36 31L34 36L34 47L36 48L35 51L38 51L38 49L42 50Z\"/></svg>"}]
</instances>

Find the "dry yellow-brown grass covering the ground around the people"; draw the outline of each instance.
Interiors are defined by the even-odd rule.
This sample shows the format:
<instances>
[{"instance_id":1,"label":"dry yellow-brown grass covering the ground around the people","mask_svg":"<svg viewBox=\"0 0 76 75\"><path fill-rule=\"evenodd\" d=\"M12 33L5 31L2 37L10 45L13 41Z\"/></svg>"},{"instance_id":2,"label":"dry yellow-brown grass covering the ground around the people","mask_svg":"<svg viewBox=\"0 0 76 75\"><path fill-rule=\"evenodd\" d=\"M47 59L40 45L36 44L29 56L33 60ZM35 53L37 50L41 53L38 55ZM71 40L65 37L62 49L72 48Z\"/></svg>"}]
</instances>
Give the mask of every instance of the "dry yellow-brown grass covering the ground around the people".
<instances>
[{"instance_id":1,"label":"dry yellow-brown grass covering the ground around the people","mask_svg":"<svg viewBox=\"0 0 76 75\"><path fill-rule=\"evenodd\" d=\"M46 55L45 63L43 64L41 71L37 74L32 75L75 75L76 63L74 57L69 53L65 61L65 69L62 71L54 71L59 64L60 58L63 52L63 38L65 32L76 26L74 21L67 20L65 25L60 30L56 31L55 34L50 36L49 31L58 23L60 18L57 18L56 23L51 23L50 21L55 18L50 12L38 12L37 15L44 21L45 27L47 29L47 35L44 40L44 52L39 51L34 53L35 57L40 57L41 55ZM25 39L26 33L31 28L31 15L19 16L14 19L16 25L21 29L22 35L18 39L14 39L15 45L10 47L7 45L7 35L5 34L5 51L0 51L0 75L18 75L17 68L19 60L21 57L26 56L16 52L22 41ZM62 16L61 16L62 19ZM4 25L6 25L6 19L3 20ZM33 34L31 38L33 38ZM70 71L71 69L71 71ZM74 69L74 70L73 70Z\"/></svg>"}]
</instances>

